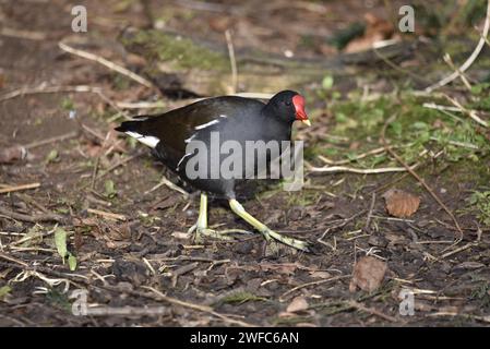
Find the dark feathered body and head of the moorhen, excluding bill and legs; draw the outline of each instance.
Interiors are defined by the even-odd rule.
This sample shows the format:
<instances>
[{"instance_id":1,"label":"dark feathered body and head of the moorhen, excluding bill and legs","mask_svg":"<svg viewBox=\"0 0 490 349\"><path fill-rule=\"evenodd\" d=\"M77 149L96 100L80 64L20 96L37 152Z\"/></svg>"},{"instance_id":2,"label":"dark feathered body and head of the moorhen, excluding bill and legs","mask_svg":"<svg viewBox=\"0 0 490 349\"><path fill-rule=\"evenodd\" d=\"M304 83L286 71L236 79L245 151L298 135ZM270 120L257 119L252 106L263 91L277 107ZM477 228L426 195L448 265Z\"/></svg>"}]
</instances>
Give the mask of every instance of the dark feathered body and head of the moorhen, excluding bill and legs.
<instances>
[{"instance_id":1,"label":"dark feathered body and head of the moorhen, excluding bill and legs","mask_svg":"<svg viewBox=\"0 0 490 349\"><path fill-rule=\"evenodd\" d=\"M285 91L267 104L236 96L207 98L163 115L139 117L134 121L123 122L116 130L155 137L158 143L153 152L168 168L202 191L230 198L235 197L236 179L222 176L218 179L190 179L187 176L186 165L192 155L186 153L187 145L191 141L208 144L212 132L219 134L220 144L237 141L243 149L247 141L290 141L291 125L297 120L291 100L298 93ZM256 155L251 159L243 154L243 169L247 168L246 163L251 160L260 163ZM270 160L267 158L266 163ZM242 177L251 174L242 173Z\"/></svg>"}]
</instances>

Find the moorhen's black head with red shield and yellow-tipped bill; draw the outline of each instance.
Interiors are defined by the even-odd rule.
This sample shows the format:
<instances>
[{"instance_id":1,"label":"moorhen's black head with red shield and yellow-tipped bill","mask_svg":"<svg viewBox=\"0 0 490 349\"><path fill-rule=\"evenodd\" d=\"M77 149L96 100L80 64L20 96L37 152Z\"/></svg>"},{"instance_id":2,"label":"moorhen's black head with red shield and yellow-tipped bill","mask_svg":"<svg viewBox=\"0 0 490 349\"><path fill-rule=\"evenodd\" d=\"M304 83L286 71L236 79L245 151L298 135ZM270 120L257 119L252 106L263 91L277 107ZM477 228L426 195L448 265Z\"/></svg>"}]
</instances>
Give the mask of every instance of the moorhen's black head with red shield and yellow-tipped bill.
<instances>
[{"instance_id":1,"label":"moorhen's black head with red shield and yellow-tipped bill","mask_svg":"<svg viewBox=\"0 0 490 349\"><path fill-rule=\"evenodd\" d=\"M304 111L304 98L294 91L282 91L274 95L265 106L265 112L278 117L285 122L301 121L310 125Z\"/></svg>"}]
</instances>

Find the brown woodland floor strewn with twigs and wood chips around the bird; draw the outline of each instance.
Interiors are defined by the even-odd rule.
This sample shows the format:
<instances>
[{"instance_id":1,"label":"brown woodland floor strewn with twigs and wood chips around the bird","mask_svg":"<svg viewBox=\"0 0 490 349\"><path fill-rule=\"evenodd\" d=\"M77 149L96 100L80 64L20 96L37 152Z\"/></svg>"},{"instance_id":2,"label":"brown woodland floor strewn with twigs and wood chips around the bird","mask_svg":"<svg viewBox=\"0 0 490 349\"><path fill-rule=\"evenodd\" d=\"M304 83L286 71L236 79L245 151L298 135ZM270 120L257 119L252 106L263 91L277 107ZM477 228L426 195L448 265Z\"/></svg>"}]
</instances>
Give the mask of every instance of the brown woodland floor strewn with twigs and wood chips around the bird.
<instances>
[{"instance_id":1,"label":"brown woodland floor strewn with twigs and wood chips around the bird","mask_svg":"<svg viewBox=\"0 0 490 349\"><path fill-rule=\"evenodd\" d=\"M97 39L93 51L129 67L135 58L121 53L120 46L115 44L117 35L127 24L146 25L147 17L141 7L131 4L135 1L127 2L124 7L121 3L126 2L105 1L101 5L100 1L85 1L92 16L89 32ZM1 95L45 83L99 86L112 101L152 98L146 87L58 48L62 38L77 36L69 31L70 3L61 0L49 4L1 2L0 15L5 26L44 35L40 38L0 36ZM231 5L238 11L232 15L238 21L237 46L277 49L279 53L284 49L296 50L299 39L279 31L282 23L289 21L291 28L310 29L323 23L314 11L302 17L310 26L301 26L292 10L276 13L267 9L268 14L275 13L271 20L265 10L256 16L243 14L253 12L258 3L250 1L244 5L235 1ZM267 3L273 7L276 2ZM374 7L372 11L378 10ZM355 5L338 9L346 22L349 16L362 16L363 11ZM212 11L175 4L167 7L166 14L171 17L168 25L172 28L187 34L208 32L210 39L222 43L222 27L230 21L227 15L213 20L216 14ZM327 35L337 24L311 32ZM254 40L247 35L241 37L242 32L252 29L256 34L251 36ZM279 35L268 35L267 31L277 31ZM306 57L321 53L313 47L304 48ZM324 53L325 50L328 49ZM488 50L486 55L488 60ZM371 76L367 84L372 94L393 89L386 67L366 69L367 76ZM312 91L316 87L307 87L310 99L315 100L309 107L313 127L300 127L297 132L297 137L306 140L307 148L310 147L307 159L316 167L323 166L316 158L320 154L342 160L346 159L345 153L361 154L380 147L380 131L392 111L402 106L409 113L413 104L420 101L406 96L380 97L359 107L356 99L348 100L350 89L346 87L338 93L347 98L339 98L330 109L330 104L325 108L322 98L331 98L333 92L315 94ZM167 110L187 101L165 99L164 103ZM427 118L414 134L418 136L427 128L432 137L439 134L434 133L435 129L454 127L447 116L434 110L423 113L417 108L414 115L421 119L399 116L402 121L397 125L408 129L415 121ZM75 118L69 118L70 110L76 110ZM258 233L236 236L236 240L227 242L193 241L187 230L198 217L198 196L187 197L166 185L151 191L160 182L163 167L144 146L111 132L116 120L121 120L117 113L118 110L95 93L26 94L0 101L0 146L3 148L76 133L63 141L32 146L26 159L0 167L0 183L4 186L40 183L37 189L0 194L0 326L488 324L490 218L486 215L490 215L490 205L478 206L480 202L475 203L476 198L469 201L475 197L475 191L490 190L488 129L480 130L481 139L471 133L478 130L475 123L465 120L459 125L461 132L467 131L469 139L480 142L468 152L461 147L446 151L446 144L435 141L435 144L428 140L417 143L414 134L411 140L397 137L396 128L390 129L386 135L395 145L397 140L402 147L410 141L430 151L430 156L420 158L405 149L401 152L407 163L420 161L420 176L455 214L464 232L457 244L453 244L458 237L453 220L409 174L308 173L307 185L299 193L273 186L243 203L271 228L313 243L314 253L298 253L284 246L266 248ZM488 116L487 120L490 120ZM435 156L440 151L442 155ZM354 161L345 166L401 165L382 153L373 163ZM391 188L418 195L419 209L407 219L391 217L382 198ZM211 202L210 206L211 225L248 229L223 203ZM121 217L108 219L89 209ZM27 217L15 219L8 212ZM59 222L39 220L53 214ZM26 221L29 219L37 224ZM57 252L56 225L69 232L68 249L77 261L74 272L69 270ZM321 238L326 243L319 242ZM374 254L387 263L384 281L372 292L349 291L352 266L366 254ZM404 288L415 292L413 316L398 312L398 294ZM74 316L69 294L75 289L88 290L91 306L132 306L133 312L146 309L146 314ZM297 303L306 300L308 306L288 312L295 298ZM187 303L177 304L175 300ZM152 314L153 306L164 308L158 314Z\"/></svg>"}]
</instances>

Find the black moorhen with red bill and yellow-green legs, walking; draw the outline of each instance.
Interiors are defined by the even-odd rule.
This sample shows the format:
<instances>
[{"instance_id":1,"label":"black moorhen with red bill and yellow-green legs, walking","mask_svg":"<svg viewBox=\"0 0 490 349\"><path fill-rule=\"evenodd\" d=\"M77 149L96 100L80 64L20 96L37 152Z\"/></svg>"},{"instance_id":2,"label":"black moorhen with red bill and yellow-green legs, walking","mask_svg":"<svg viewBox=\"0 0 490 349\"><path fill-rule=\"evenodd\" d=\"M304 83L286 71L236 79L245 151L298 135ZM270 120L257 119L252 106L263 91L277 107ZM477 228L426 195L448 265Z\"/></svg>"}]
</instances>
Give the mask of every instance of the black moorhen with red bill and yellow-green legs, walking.
<instances>
[{"instance_id":1,"label":"black moorhen with red bill and yellow-green legs, walking","mask_svg":"<svg viewBox=\"0 0 490 349\"><path fill-rule=\"evenodd\" d=\"M264 224L247 213L236 200L236 184L243 179L242 173L236 177L225 177L218 173L212 176L191 176L188 161L194 157L211 158L212 146L204 151L187 153L191 142L201 141L210 145L213 134L219 137L219 144L232 141L244 145L247 141L290 141L292 122L299 120L308 125L310 121L304 111L304 98L292 91L283 91L273 96L267 104L252 98L238 96L222 96L203 99L182 108L174 109L157 116L140 116L132 121L122 122L117 131L135 137L141 143L153 148L153 154L169 169L179 174L189 184L201 190L201 204L198 222L191 228L198 234L216 236L217 232L207 228L207 193L225 197L232 212L258 229L265 239L275 239L298 250L308 251L304 241L282 236L271 230ZM188 151L189 152L189 151ZM220 155L219 155L220 156ZM243 153L243 161L256 161ZM251 158L252 157L252 158ZM195 160L195 159L194 159ZM268 155L266 163L273 160ZM211 165L207 174L215 169ZM246 166L243 166L246 167ZM253 169L256 172L256 167Z\"/></svg>"}]
</instances>

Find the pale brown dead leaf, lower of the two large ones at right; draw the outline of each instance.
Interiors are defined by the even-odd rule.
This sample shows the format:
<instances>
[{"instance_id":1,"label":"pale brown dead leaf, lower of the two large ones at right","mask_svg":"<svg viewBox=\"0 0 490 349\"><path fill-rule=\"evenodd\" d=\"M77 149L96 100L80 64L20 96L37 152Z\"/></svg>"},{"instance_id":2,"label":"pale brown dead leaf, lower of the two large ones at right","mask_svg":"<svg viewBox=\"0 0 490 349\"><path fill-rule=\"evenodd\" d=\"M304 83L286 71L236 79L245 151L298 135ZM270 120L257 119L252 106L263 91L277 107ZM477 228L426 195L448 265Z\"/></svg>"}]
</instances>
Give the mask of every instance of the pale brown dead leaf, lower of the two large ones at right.
<instances>
[{"instance_id":1,"label":"pale brown dead leaf, lower of the two large ones at right","mask_svg":"<svg viewBox=\"0 0 490 349\"><path fill-rule=\"evenodd\" d=\"M386 262L372 256L363 256L354 265L352 279L349 291L355 292L359 287L363 291L372 292L381 286L386 274Z\"/></svg>"}]
</instances>

